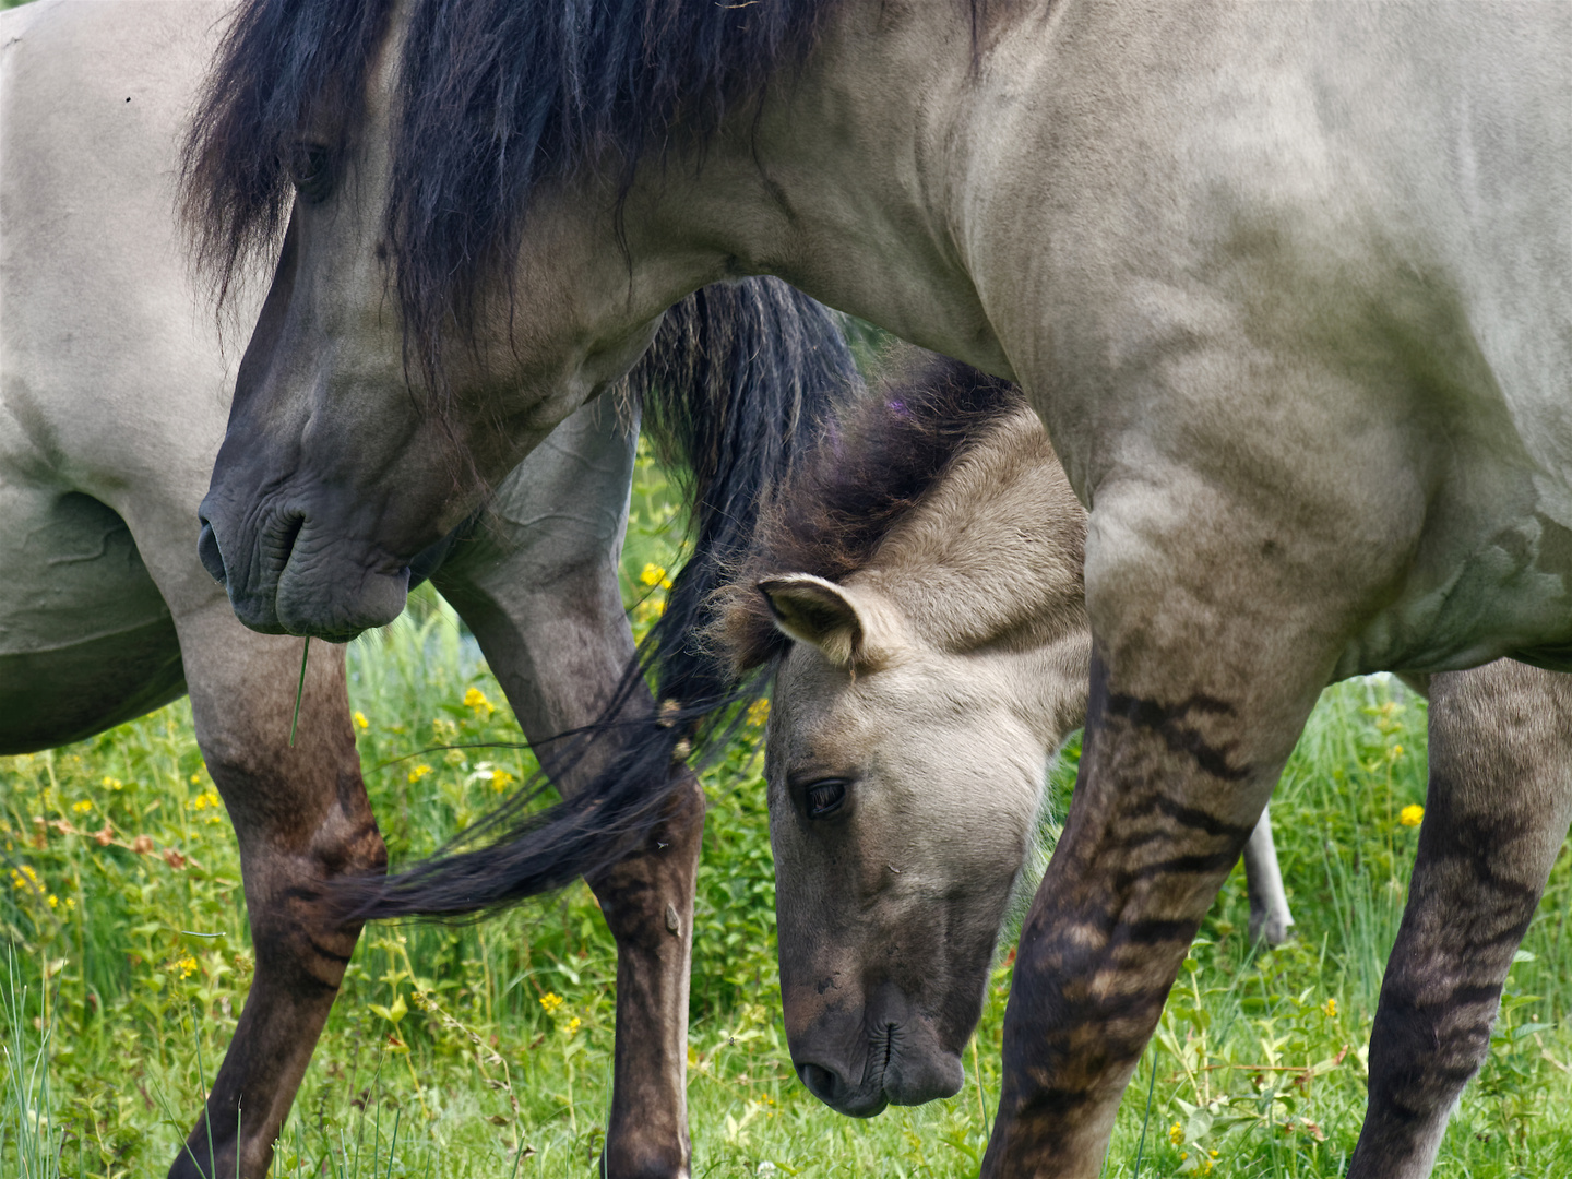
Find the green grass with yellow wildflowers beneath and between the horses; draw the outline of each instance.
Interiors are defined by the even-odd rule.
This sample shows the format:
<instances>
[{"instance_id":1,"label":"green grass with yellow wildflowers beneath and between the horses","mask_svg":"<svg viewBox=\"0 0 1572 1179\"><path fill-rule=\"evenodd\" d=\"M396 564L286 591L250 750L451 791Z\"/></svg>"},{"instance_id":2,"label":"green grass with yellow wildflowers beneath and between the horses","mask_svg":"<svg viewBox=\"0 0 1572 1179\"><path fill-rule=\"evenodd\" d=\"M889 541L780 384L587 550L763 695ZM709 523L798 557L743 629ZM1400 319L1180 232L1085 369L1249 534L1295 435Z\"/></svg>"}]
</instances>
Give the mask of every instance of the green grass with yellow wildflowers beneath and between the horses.
<instances>
[{"instance_id":1,"label":"green grass with yellow wildflowers beneath and between the horses","mask_svg":"<svg viewBox=\"0 0 1572 1179\"><path fill-rule=\"evenodd\" d=\"M638 627L659 613L663 571L678 560L670 501L641 461L624 560ZM495 681L429 593L349 660L362 759L395 861L464 830L534 772ZM762 715L751 712L704 775L695 1174L975 1174L998 1093L1009 940L959 1096L871 1122L808 1096L775 982ZM1247 945L1236 871L1137 1069L1107 1176L1342 1173L1423 819L1424 717L1421 700L1383 678L1325 693L1273 800L1297 940ZM1045 839L1075 758L1071 742ZM189 706L0 759L0 1174L162 1174L252 970L234 838ZM1569 901L1563 855L1437 1174L1572 1174ZM612 938L583 885L484 924L366 931L274 1174L593 1174L613 975Z\"/></svg>"}]
</instances>

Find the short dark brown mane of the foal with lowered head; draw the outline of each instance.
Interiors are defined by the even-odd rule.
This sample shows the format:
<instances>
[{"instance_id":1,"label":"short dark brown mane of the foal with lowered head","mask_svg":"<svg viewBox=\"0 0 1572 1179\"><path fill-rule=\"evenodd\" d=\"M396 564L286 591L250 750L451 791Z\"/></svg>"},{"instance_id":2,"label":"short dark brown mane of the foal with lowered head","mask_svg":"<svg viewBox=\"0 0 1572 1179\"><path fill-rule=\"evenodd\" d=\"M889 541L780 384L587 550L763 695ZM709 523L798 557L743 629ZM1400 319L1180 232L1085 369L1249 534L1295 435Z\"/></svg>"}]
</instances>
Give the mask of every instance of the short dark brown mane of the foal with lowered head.
<instances>
[{"instance_id":1,"label":"short dark brown mane of the foal with lowered head","mask_svg":"<svg viewBox=\"0 0 1572 1179\"><path fill-rule=\"evenodd\" d=\"M769 492L753 542L718 591L711 641L736 673L784 654L758 583L781 574L844 582L866 567L890 530L1027 398L959 360L902 347L872 396L843 410Z\"/></svg>"}]
</instances>

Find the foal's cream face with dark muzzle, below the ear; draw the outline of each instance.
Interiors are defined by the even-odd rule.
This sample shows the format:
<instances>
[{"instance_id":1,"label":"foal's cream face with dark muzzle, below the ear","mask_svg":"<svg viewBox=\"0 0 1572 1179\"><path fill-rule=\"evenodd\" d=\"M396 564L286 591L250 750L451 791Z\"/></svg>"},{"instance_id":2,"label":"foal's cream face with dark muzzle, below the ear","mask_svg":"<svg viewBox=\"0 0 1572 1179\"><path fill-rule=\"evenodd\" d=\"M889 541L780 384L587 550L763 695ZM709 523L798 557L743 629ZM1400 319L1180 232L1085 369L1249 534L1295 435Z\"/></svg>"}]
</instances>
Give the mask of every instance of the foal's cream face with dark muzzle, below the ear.
<instances>
[{"instance_id":1,"label":"foal's cream face with dark muzzle, below the ear","mask_svg":"<svg viewBox=\"0 0 1572 1179\"><path fill-rule=\"evenodd\" d=\"M1049 751L1019 657L946 654L855 596L858 663L824 629L784 659L766 773L792 1061L866 1116L959 1089Z\"/></svg>"}]
</instances>

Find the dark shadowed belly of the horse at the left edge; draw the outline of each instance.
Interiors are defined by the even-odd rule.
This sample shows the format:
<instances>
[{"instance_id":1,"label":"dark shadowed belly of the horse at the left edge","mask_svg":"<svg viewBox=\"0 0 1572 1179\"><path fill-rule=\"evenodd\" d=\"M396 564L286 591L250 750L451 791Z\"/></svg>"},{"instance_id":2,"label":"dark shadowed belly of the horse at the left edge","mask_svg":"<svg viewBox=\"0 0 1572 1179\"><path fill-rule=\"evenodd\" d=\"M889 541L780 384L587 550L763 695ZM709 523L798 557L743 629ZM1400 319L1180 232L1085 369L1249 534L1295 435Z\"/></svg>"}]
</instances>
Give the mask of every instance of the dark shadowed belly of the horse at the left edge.
<instances>
[{"instance_id":1,"label":"dark shadowed belly of the horse at the left edge","mask_svg":"<svg viewBox=\"0 0 1572 1179\"><path fill-rule=\"evenodd\" d=\"M0 487L0 755L79 740L185 692L163 597L112 509Z\"/></svg>"}]
</instances>

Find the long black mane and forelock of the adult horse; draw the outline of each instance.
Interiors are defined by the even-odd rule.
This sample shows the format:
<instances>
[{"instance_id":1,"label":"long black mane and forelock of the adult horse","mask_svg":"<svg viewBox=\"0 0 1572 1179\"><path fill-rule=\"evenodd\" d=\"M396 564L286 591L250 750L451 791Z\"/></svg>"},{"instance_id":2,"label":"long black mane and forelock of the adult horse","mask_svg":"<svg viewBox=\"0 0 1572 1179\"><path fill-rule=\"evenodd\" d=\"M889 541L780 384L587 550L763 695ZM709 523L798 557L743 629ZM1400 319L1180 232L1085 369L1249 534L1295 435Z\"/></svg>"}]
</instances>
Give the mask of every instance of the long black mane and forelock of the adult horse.
<instances>
[{"instance_id":1,"label":"long black mane and forelock of the adult horse","mask_svg":"<svg viewBox=\"0 0 1572 1179\"><path fill-rule=\"evenodd\" d=\"M506 291L530 198L590 165L701 141L813 44L835 0L413 0L395 86L384 211L406 341L440 377L443 329L473 332ZM391 0L247 0L219 50L184 152L184 214L226 291L277 244L305 127L332 127L329 170L362 134Z\"/></svg>"}]
</instances>

